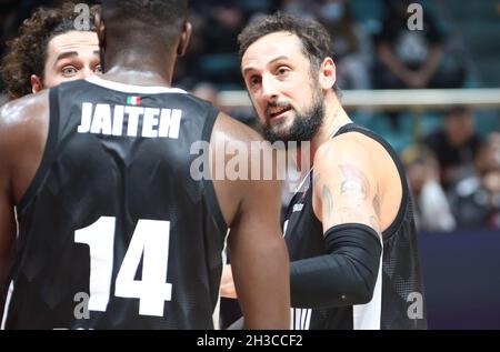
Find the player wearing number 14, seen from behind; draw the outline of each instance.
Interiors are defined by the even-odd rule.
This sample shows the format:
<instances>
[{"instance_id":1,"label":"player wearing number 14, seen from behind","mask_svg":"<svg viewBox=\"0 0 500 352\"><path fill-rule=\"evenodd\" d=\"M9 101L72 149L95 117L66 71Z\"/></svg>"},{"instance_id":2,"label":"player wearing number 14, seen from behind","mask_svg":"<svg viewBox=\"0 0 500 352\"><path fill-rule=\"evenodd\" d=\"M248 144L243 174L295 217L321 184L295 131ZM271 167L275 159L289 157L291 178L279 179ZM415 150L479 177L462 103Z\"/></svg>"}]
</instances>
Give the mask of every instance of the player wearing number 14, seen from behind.
<instances>
[{"instance_id":1,"label":"player wearing number 14, seen from behind","mask_svg":"<svg viewBox=\"0 0 500 352\"><path fill-rule=\"evenodd\" d=\"M279 184L199 181L190 170L193 143L210 143L214 161L220 143L258 135L170 88L191 32L187 1L109 0L97 31L103 79L0 112L2 280L17 242L3 325L211 329L230 227L246 328L287 329Z\"/></svg>"}]
</instances>

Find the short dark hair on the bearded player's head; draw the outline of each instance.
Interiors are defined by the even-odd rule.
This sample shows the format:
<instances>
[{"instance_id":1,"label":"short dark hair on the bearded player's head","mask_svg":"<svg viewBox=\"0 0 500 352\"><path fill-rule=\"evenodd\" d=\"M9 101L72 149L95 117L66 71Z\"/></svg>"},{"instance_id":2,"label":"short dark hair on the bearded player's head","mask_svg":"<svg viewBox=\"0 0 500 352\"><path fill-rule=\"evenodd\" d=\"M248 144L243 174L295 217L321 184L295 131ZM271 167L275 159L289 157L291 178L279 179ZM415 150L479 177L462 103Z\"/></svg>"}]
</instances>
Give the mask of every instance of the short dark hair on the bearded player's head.
<instances>
[{"instance_id":1,"label":"short dark hair on the bearded player's head","mask_svg":"<svg viewBox=\"0 0 500 352\"><path fill-rule=\"evenodd\" d=\"M250 22L238 36L240 60L251 44L276 32L290 32L300 39L303 53L311 63L311 70L319 70L327 57L333 58L332 38L321 23L276 12ZM333 90L339 92L337 83Z\"/></svg>"}]
</instances>

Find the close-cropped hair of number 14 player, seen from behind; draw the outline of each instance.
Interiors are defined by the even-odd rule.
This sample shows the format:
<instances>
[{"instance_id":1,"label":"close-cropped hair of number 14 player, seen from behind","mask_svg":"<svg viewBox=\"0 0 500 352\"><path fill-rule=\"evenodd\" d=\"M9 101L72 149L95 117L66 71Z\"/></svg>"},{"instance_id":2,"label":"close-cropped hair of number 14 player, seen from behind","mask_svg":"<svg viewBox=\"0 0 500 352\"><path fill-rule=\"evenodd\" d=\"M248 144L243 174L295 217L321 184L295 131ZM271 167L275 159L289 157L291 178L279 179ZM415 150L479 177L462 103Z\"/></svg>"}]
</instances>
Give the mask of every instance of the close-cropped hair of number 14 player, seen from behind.
<instances>
[{"instance_id":1,"label":"close-cropped hair of number 14 player, seen from behind","mask_svg":"<svg viewBox=\"0 0 500 352\"><path fill-rule=\"evenodd\" d=\"M159 32L169 43L178 39L188 17L188 0L106 0L101 7L108 31L119 31L121 37Z\"/></svg>"}]
</instances>

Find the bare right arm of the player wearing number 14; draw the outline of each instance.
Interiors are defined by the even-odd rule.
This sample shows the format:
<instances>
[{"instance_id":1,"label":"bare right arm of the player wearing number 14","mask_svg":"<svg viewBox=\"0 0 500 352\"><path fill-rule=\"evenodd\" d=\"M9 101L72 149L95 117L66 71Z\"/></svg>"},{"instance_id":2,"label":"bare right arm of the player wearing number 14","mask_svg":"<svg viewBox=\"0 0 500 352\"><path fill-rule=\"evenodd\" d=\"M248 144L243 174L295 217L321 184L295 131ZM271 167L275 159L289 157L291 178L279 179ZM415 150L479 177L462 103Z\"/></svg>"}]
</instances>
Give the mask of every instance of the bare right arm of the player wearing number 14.
<instances>
[{"instance_id":1,"label":"bare right arm of the player wearing number 14","mask_svg":"<svg viewBox=\"0 0 500 352\"><path fill-rule=\"evenodd\" d=\"M248 148L251 141L260 140L256 132L223 115L216 123L214 134L211 142L239 141ZM269 152L269 149L264 151ZM258 158L252 155L257 154L260 151L252 150L248 162L256 162ZM263 168L273 165L262 165L262 171ZM251 170L251 164L248 170ZM260 178L254 181L218 181L214 185L231 228L229 255L244 328L289 329L289 261L279 225L279 182Z\"/></svg>"}]
</instances>

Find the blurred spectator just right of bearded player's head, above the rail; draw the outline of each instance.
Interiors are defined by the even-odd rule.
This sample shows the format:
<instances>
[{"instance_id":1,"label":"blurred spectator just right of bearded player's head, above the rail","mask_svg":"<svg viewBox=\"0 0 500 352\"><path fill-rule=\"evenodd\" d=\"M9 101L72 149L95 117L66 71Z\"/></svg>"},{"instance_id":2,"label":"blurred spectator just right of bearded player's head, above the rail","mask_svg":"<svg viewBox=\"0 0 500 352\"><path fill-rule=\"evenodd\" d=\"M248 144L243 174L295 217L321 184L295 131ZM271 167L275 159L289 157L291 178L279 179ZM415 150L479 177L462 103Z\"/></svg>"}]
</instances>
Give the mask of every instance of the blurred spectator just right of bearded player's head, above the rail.
<instances>
[{"instance_id":1,"label":"blurred spectator just right of bearded player's head, above the rail","mask_svg":"<svg viewBox=\"0 0 500 352\"><path fill-rule=\"evenodd\" d=\"M347 1L323 1L317 17L333 37L337 84L341 89L369 89L371 41L364 29L354 22Z\"/></svg>"}]
</instances>

